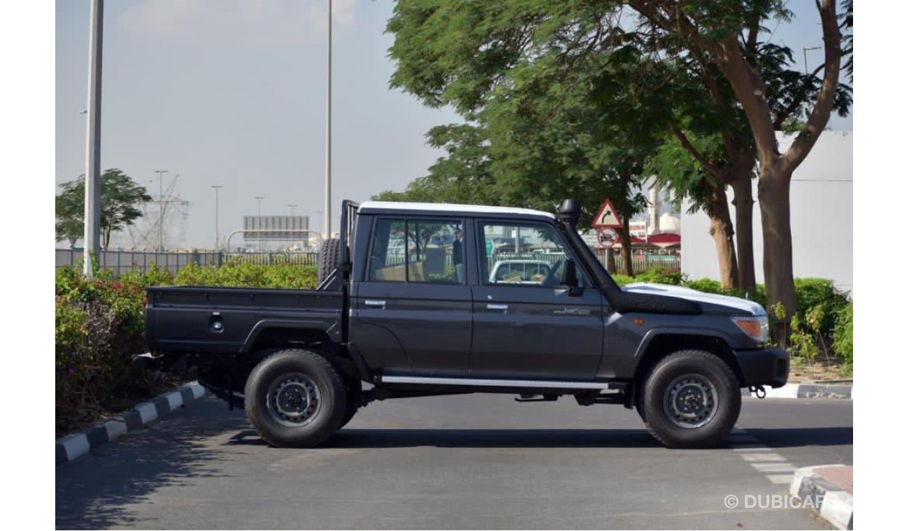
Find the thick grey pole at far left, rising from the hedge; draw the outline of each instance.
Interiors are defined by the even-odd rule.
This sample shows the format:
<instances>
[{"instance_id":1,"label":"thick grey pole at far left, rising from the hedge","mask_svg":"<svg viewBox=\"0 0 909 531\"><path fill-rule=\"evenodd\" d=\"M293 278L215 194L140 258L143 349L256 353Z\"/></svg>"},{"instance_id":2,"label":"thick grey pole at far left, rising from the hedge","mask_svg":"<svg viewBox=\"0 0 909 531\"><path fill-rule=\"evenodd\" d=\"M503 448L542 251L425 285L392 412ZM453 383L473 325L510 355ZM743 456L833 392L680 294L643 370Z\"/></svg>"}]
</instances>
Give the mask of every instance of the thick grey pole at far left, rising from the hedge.
<instances>
[{"instance_id":1,"label":"thick grey pole at far left, rising from the hedge","mask_svg":"<svg viewBox=\"0 0 909 531\"><path fill-rule=\"evenodd\" d=\"M92 277L92 260L101 253L101 50L105 2L92 0L88 24L88 113L85 126L85 222L82 272Z\"/></svg>"}]
</instances>

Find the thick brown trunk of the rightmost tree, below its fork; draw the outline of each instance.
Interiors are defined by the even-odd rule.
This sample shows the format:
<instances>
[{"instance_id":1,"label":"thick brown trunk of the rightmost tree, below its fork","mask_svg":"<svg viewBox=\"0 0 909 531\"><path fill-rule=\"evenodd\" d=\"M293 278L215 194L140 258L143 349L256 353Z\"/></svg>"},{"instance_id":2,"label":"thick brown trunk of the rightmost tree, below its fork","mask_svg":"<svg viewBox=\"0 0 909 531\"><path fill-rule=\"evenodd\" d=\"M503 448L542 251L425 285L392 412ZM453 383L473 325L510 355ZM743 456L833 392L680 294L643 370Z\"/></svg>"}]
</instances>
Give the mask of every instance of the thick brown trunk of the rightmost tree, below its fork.
<instances>
[{"instance_id":1,"label":"thick brown trunk of the rightmost tree, below its fork","mask_svg":"<svg viewBox=\"0 0 909 531\"><path fill-rule=\"evenodd\" d=\"M774 326L774 339L788 337L789 322L798 310L795 305L793 278L793 240L789 223L789 188L792 172L784 172L776 163L762 163L757 182L757 199L761 208L764 231L764 284L767 290L767 313L775 320L773 307L782 303L785 317Z\"/></svg>"}]
</instances>

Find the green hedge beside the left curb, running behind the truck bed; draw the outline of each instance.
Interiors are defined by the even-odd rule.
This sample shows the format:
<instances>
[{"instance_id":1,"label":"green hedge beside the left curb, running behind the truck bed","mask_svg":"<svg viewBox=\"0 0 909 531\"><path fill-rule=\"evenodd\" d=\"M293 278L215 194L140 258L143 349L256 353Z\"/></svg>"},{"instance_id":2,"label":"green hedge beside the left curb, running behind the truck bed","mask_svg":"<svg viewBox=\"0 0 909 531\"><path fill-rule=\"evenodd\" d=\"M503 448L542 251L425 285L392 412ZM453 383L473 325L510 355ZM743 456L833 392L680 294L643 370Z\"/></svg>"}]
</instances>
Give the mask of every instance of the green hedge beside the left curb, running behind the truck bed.
<instances>
[{"instance_id":1,"label":"green hedge beside the left curb, running behind the truck bed","mask_svg":"<svg viewBox=\"0 0 909 531\"><path fill-rule=\"evenodd\" d=\"M145 289L195 285L313 289L315 267L228 264L215 269L190 263L176 275L156 267L115 279L100 270L89 280L75 268L55 275L56 418L65 428L90 419L105 400L125 388L147 388L150 376L130 372L144 352Z\"/></svg>"}]
</instances>

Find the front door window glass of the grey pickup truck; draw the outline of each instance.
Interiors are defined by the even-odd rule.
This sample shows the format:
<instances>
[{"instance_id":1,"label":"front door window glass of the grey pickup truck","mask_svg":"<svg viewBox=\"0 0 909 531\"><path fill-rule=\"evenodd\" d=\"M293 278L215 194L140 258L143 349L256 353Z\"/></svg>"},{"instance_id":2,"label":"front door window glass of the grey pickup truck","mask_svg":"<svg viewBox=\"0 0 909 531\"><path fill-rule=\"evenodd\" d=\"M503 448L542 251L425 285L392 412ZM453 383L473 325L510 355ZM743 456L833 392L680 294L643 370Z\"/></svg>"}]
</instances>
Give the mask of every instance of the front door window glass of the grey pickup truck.
<instances>
[{"instance_id":1,"label":"front door window glass of the grey pickup truck","mask_svg":"<svg viewBox=\"0 0 909 531\"><path fill-rule=\"evenodd\" d=\"M569 255L548 225L480 223L481 280L487 285L557 287ZM578 271L579 276L583 274Z\"/></svg>"}]
</instances>

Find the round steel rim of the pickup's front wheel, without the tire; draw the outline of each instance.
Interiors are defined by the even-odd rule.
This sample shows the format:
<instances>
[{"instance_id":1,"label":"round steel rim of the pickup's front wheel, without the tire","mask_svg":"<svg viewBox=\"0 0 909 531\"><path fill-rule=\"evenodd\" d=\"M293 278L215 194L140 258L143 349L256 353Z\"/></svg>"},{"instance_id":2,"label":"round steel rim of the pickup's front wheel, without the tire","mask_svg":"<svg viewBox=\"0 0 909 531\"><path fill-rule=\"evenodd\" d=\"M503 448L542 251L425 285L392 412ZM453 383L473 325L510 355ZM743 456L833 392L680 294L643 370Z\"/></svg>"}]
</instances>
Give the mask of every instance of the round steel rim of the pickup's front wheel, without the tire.
<instances>
[{"instance_id":1,"label":"round steel rim of the pickup's front wheel, without the tire","mask_svg":"<svg viewBox=\"0 0 909 531\"><path fill-rule=\"evenodd\" d=\"M701 374L685 374L666 388L663 406L666 417L679 428L701 428L719 409L714 384Z\"/></svg>"}]
</instances>

